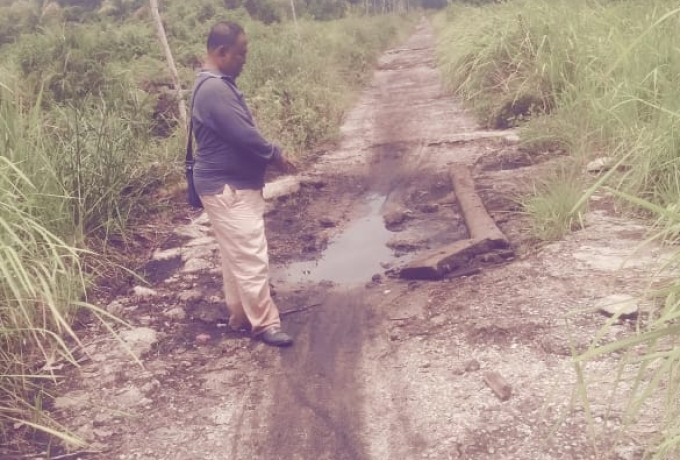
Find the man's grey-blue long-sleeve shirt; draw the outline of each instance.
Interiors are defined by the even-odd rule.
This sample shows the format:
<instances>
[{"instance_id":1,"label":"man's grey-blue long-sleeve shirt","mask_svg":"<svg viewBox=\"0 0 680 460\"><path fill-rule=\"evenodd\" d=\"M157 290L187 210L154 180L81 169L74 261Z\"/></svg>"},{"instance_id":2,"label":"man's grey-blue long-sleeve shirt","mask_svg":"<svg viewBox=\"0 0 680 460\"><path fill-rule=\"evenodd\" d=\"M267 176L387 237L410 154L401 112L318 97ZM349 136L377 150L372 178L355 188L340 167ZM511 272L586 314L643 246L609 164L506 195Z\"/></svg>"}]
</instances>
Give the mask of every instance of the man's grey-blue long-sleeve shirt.
<instances>
[{"instance_id":1,"label":"man's grey-blue long-sleeve shirt","mask_svg":"<svg viewBox=\"0 0 680 460\"><path fill-rule=\"evenodd\" d=\"M219 194L227 184L236 189L264 187L267 164L281 150L260 134L234 80L217 71L202 71L192 103L198 194Z\"/></svg>"}]
</instances>

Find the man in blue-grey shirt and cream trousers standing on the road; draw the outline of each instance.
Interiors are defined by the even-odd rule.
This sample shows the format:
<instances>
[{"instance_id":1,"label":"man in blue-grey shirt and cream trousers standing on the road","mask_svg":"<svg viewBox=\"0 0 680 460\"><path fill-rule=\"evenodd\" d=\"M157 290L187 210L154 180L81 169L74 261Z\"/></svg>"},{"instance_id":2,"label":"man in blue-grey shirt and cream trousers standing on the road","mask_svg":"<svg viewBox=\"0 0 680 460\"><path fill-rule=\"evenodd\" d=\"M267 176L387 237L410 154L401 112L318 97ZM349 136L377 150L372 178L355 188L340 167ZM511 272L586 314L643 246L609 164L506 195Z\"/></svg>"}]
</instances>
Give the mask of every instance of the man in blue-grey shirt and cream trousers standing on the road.
<instances>
[{"instance_id":1,"label":"man in blue-grey shirt and cream trousers standing on the road","mask_svg":"<svg viewBox=\"0 0 680 460\"><path fill-rule=\"evenodd\" d=\"M269 164L285 172L295 168L260 134L236 86L248 52L243 28L215 24L207 48L192 98L194 184L220 248L229 326L250 327L264 343L288 346L293 340L281 330L269 289L262 190Z\"/></svg>"}]
</instances>

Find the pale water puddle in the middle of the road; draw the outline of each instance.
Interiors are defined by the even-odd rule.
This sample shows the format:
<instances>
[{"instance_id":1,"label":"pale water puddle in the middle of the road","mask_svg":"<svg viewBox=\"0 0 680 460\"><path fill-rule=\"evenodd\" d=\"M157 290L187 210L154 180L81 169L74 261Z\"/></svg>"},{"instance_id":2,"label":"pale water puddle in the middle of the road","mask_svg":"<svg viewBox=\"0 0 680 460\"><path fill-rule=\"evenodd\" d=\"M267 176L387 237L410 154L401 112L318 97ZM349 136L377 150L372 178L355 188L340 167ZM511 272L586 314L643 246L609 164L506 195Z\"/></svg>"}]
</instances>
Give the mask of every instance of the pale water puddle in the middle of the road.
<instances>
[{"instance_id":1,"label":"pale water puddle in the middle of the road","mask_svg":"<svg viewBox=\"0 0 680 460\"><path fill-rule=\"evenodd\" d=\"M331 281L358 284L383 273L383 263L395 260L386 246L394 233L385 228L380 210L385 196L372 195L366 201L366 214L352 222L328 243L319 260L294 262L275 271L275 280L285 283Z\"/></svg>"}]
</instances>

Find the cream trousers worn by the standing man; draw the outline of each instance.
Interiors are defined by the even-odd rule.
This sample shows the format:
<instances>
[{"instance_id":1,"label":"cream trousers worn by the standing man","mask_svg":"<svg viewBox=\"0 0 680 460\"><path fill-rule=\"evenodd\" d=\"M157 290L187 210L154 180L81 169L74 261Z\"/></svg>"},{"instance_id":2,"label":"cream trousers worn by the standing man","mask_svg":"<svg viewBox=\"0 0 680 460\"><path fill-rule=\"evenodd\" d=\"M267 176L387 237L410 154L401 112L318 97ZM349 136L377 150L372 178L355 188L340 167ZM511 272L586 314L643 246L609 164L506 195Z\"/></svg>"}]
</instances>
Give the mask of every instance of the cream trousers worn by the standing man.
<instances>
[{"instance_id":1,"label":"cream trousers worn by the standing man","mask_svg":"<svg viewBox=\"0 0 680 460\"><path fill-rule=\"evenodd\" d=\"M260 190L235 190L202 196L203 208L220 248L229 325L250 323L253 334L279 327L279 310L269 290L269 256Z\"/></svg>"}]
</instances>

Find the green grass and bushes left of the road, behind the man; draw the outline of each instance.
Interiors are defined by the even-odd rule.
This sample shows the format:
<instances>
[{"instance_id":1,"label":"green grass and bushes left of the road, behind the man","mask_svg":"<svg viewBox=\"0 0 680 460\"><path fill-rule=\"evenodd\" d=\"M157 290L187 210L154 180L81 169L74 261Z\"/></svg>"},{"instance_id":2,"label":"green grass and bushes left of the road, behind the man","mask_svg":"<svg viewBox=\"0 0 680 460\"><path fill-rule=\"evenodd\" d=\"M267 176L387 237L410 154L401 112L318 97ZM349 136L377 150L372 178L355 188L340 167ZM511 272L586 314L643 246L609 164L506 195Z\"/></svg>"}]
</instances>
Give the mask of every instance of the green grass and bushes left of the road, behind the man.
<instances>
[{"instance_id":1,"label":"green grass and bushes left of the road, behind the man","mask_svg":"<svg viewBox=\"0 0 680 460\"><path fill-rule=\"evenodd\" d=\"M267 135L306 158L336 138L413 17L392 1L295 5L296 22L277 1L161 2L161 14L183 97L210 26L241 22L239 84ZM0 445L76 442L42 407L75 364L75 315L115 321L87 297L107 257L183 197L177 107L146 1L0 1Z\"/></svg>"}]
</instances>

